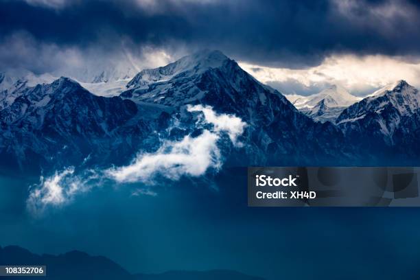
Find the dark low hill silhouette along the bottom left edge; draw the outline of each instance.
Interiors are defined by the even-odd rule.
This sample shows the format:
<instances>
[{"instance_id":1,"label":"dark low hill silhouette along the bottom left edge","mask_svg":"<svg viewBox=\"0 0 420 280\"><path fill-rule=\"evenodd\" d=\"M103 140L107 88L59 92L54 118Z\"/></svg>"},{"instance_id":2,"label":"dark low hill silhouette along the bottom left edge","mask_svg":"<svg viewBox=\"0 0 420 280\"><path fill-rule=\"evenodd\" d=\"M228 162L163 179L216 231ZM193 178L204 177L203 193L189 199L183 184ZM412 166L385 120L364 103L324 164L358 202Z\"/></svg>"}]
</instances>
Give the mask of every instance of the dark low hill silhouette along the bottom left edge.
<instances>
[{"instance_id":1,"label":"dark low hill silhouette along the bottom left edge","mask_svg":"<svg viewBox=\"0 0 420 280\"><path fill-rule=\"evenodd\" d=\"M131 275L106 257L91 256L78 250L60 255L36 255L19 246L0 247L0 265L47 266L47 277L25 279L57 280L262 280L232 270L169 271L156 275ZM9 278L9 277L7 277ZM7 279L2 277L3 279ZM10 277L16 279L16 277Z\"/></svg>"}]
</instances>

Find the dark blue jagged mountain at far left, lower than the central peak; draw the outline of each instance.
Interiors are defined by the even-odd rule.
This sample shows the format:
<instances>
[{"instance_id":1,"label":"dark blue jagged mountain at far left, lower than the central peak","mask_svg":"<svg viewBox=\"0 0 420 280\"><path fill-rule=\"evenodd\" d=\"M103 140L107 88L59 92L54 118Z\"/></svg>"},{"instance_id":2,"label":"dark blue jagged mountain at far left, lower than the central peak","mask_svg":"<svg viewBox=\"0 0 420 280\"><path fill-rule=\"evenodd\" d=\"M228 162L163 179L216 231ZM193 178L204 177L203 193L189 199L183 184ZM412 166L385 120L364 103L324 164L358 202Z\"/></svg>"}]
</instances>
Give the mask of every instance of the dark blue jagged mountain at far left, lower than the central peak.
<instances>
[{"instance_id":1,"label":"dark blue jagged mountain at far left, lower than the central peak","mask_svg":"<svg viewBox=\"0 0 420 280\"><path fill-rule=\"evenodd\" d=\"M118 163L155 142L154 109L121 97L98 97L69 78L28 87L0 111L0 163L39 171L47 167ZM147 117L143 117L147 116ZM152 128L153 127L153 128Z\"/></svg>"}]
</instances>

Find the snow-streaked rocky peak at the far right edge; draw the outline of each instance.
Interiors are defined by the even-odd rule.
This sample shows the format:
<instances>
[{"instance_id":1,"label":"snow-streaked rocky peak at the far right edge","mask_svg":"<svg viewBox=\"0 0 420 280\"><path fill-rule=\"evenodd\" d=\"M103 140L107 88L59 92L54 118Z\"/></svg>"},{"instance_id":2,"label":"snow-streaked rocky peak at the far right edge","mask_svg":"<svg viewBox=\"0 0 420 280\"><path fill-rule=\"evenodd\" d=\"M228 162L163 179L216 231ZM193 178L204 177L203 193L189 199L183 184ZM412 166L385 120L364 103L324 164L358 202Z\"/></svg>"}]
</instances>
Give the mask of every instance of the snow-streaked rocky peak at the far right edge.
<instances>
[{"instance_id":1,"label":"snow-streaked rocky peak at the far right edge","mask_svg":"<svg viewBox=\"0 0 420 280\"><path fill-rule=\"evenodd\" d=\"M348 138L380 152L395 147L396 154L419 154L420 94L400 80L343 110L336 124Z\"/></svg>"}]
</instances>

